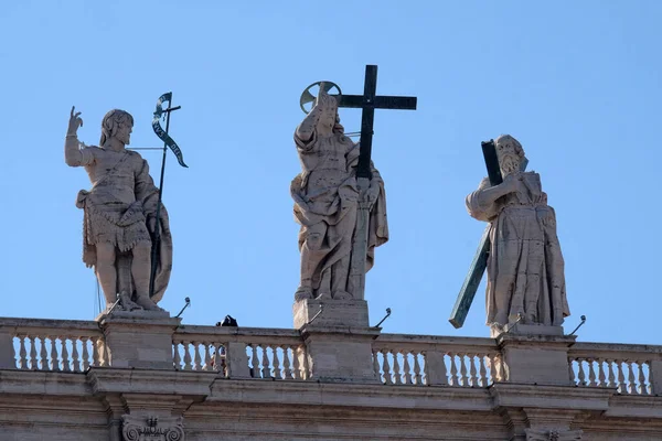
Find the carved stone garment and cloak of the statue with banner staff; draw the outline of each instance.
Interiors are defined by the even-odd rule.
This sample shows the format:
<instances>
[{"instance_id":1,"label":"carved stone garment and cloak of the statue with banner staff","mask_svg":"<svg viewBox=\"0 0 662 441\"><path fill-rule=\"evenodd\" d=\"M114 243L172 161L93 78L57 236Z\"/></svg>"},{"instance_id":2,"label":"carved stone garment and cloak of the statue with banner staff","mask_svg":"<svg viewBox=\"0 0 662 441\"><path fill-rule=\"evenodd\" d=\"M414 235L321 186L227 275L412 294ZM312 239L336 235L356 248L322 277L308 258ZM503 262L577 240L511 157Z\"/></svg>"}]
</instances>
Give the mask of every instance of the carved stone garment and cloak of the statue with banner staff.
<instances>
[{"instance_id":1,"label":"carved stone garment and cloak of the statue with banner staff","mask_svg":"<svg viewBox=\"0 0 662 441\"><path fill-rule=\"evenodd\" d=\"M89 191L78 192L76 206L84 209L83 261L96 265L96 244L116 246L118 292L132 292L130 250L139 243L150 243L147 217L156 216L159 189L149 174L147 161L130 150L113 151L98 147L81 150L81 165L85 166L93 184ZM154 295L163 297L172 270L172 235L168 212L163 205L159 213L160 247L158 250Z\"/></svg>"}]
</instances>

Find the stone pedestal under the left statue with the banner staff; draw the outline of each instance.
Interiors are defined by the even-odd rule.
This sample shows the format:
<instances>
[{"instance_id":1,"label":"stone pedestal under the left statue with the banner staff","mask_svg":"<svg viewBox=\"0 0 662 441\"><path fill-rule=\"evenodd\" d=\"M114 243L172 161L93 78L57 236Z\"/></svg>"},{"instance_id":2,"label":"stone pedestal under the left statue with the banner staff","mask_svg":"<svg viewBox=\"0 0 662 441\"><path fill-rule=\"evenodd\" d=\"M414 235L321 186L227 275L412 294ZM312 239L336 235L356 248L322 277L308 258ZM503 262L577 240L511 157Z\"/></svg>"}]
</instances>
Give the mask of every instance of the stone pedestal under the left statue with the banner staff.
<instances>
[{"instance_id":1,"label":"stone pedestal under the left statue with the banner staff","mask_svg":"<svg viewBox=\"0 0 662 441\"><path fill-rule=\"evenodd\" d=\"M181 319L168 312L114 312L97 318L113 367L174 369L172 334Z\"/></svg>"}]
</instances>

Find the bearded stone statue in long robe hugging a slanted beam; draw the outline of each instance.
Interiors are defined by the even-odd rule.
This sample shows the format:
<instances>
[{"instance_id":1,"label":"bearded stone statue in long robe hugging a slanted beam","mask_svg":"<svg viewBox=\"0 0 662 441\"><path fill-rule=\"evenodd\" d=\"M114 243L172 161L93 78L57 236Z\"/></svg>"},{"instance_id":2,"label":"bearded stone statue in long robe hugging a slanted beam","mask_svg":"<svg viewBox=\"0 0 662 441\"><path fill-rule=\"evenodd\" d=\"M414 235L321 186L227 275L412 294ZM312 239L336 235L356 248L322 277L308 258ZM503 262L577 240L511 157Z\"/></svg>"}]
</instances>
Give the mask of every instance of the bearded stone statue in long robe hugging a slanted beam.
<instances>
[{"instance_id":1,"label":"bearded stone statue in long robe hugging a slanted beam","mask_svg":"<svg viewBox=\"0 0 662 441\"><path fill-rule=\"evenodd\" d=\"M556 214L535 172L520 172L524 150L509 135L495 141L503 183L483 179L467 196L471 217L491 224L488 325L560 325L569 315Z\"/></svg>"}]
</instances>

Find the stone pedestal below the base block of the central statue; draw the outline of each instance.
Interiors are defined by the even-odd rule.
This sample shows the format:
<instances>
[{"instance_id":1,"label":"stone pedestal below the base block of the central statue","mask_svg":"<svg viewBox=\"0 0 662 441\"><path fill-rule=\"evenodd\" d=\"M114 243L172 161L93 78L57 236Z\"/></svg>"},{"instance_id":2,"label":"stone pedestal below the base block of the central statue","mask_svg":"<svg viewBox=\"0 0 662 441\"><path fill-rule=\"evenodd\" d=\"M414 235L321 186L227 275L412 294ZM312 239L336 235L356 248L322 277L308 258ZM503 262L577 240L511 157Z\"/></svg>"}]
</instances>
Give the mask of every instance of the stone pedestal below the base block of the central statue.
<instances>
[{"instance_id":1,"label":"stone pedestal below the base block of the central statue","mask_svg":"<svg viewBox=\"0 0 662 441\"><path fill-rule=\"evenodd\" d=\"M372 342L377 327L350 329L317 323L301 327L312 380L322 383L381 383L373 367Z\"/></svg>"}]
</instances>

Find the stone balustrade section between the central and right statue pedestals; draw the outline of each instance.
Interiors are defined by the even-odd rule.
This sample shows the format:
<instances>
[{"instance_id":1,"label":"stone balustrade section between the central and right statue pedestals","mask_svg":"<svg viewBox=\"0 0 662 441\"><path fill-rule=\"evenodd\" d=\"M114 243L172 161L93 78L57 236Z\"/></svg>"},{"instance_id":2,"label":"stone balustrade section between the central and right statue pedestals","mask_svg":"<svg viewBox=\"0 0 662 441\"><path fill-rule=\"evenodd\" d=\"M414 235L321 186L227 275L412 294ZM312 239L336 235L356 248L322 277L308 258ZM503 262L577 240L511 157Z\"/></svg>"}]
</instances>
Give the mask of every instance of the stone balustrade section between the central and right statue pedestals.
<instances>
[{"instance_id":1,"label":"stone balustrade section between the central and right statue pedestals","mask_svg":"<svg viewBox=\"0 0 662 441\"><path fill-rule=\"evenodd\" d=\"M385 385L487 387L506 379L492 338L382 334L373 366Z\"/></svg>"}]
</instances>

